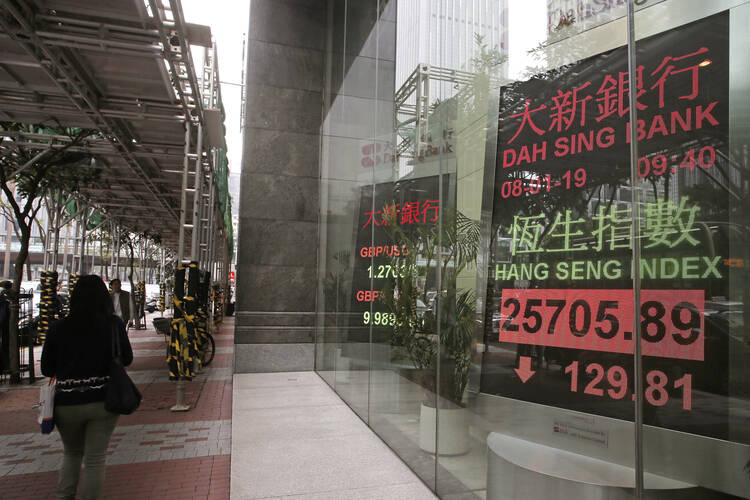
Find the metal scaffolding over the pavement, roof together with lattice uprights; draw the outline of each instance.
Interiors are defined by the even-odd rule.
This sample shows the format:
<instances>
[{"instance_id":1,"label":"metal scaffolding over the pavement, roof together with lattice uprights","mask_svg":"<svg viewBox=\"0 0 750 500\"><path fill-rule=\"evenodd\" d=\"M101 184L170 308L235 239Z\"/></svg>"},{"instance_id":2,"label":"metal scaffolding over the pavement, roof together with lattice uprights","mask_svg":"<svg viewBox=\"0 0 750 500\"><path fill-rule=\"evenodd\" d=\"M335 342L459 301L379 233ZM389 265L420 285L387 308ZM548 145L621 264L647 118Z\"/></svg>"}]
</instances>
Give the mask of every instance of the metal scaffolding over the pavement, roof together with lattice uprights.
<instances>
[{"instance_id":1,"label":"metal scaffolding over the pavement, roof together with lattice uprights","mask_svg":"<svg viewBox=\"0 0 750 500\"><path fill-rule=\"evenodd\" d=\"M116 233L149 235L177 264L198 261L225 286L231 228L217 189L226 143L210 28L187 23L179 0L4 0L0 30L0 121L94 131L70 148L102 159L101 178L76 193L85 214L102 214ZM191 46L203 47L200 72ZM70 140L0 130L0 150ZM57 263L63 205L48 197L55 237L45 265Z\"/></svg>"}]
</instances>

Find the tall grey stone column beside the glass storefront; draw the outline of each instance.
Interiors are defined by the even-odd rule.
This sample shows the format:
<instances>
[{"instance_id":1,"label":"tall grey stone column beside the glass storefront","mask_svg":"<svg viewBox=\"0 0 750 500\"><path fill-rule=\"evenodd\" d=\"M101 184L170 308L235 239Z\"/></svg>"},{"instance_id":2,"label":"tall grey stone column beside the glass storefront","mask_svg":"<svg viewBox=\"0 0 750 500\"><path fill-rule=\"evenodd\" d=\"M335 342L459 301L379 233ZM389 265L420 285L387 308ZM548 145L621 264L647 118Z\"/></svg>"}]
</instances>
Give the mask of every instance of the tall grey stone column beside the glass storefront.
<instances>
[{"instance_id":1,"label":"tall grey stone column beside the glass storefront","mask_svg":"<svg viewBox=\"0 0 750 500\"><path fill-rule=\"evenodd\" d=\"M235 371L312 370L326 1L250 9Z\"/></svg>"}]
</instances>

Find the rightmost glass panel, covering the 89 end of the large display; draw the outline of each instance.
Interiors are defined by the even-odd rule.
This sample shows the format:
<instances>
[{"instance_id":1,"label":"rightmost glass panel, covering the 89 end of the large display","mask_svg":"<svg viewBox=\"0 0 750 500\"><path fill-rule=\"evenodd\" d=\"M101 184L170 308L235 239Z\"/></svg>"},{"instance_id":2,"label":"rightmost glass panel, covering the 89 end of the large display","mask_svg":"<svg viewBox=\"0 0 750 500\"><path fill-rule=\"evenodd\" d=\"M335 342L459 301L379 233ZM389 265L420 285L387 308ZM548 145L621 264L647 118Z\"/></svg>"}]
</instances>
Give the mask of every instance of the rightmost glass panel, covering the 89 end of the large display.
<instances>
[{"instance_id":1,"label":"rightmost glass panel, covering the 89 end of the large display","mask_svg":"<svg viewBox=\"0 0 750 500\"><path fill-rule=\"evenodd\" d=\"M680 498L750 498L748 22L743 1L635 17L643 460Z\"/></svg>"}]
</instances>

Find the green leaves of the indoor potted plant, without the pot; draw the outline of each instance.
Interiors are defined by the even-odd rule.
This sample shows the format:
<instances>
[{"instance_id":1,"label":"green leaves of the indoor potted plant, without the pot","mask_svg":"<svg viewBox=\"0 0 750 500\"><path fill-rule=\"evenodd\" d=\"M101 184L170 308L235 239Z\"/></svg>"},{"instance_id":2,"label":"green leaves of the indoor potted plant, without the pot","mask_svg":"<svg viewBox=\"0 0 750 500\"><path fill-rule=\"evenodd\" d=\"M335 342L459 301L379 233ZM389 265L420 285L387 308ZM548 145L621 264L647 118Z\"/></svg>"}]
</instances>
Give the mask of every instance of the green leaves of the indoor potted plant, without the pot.
<instances>
[{"instance_id":1,"label":"green leaves of the indoor potted plant, without the pot","mask_svg":"<svg viewBox=\"0 0 750 500\"><path fill-rule=\"evenodd\" d=\"M461 405L471 363L476 297L473 290L458 290L456 280L467 266L476 262L479 223L459 211L443 208L439 224L407 228L397 224L392 216L383 227L395 245L407 249L405 254L390 257L397 276L386 281L381 299L395 316L391 345L403 347L414 367L420 370L435 369L439 361L444 374L440 395ZM425 264L418 265L418 258ZM441 276L435 299L438 315L428 311L420 316L417 299L426 302L427 290L418 283L425 281L427 273L437 266ZM422 383L434 390L428 381Z\"/></svg>"}]
</instances>

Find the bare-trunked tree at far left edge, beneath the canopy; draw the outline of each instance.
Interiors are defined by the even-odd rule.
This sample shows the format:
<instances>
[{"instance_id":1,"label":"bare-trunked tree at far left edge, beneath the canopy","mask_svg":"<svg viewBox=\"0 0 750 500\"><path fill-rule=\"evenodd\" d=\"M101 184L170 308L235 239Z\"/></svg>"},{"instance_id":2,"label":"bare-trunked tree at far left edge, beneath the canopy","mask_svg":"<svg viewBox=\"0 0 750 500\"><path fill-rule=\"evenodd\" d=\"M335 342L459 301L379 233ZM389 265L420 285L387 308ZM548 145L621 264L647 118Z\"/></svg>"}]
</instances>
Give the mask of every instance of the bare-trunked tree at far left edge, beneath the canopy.
<instances>
[{"instance_id":1,"label":"bare-trunked tree at far left edge, beneath the canopy","mask_svg":"<svg viewBox=\"0 0 750 500\"><path fill-rule=\"evenodd\" d=\"M20 383L18 353L19 290L29 255L31 229L44 197L52 190L77 192L81 184L98 178L101 160L85 151L98 133L88 129L31 126L0 122L0 189L6 216L14 222L21 244L13 269L10 293L9 365L11 383ZM14 192L15 191L15 192Z\"/></svg>"}]
</instances>

